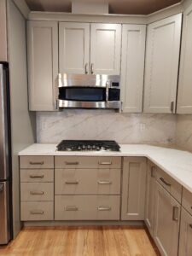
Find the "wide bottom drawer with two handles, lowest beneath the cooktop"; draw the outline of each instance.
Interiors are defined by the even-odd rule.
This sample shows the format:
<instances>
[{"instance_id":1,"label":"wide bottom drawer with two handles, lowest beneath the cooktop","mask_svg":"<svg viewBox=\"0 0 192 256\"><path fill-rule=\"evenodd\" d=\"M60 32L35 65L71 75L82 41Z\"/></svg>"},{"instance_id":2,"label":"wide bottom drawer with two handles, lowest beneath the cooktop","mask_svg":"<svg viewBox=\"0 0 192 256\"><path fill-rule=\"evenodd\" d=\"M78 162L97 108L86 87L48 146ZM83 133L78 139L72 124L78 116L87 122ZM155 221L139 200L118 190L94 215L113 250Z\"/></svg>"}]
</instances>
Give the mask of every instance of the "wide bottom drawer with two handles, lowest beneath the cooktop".
<instances>
[{"instance_id":1,"label":"wide bottom drawer with two handles, lowest beneath the cooktop","mask_svg":"<svg viewBox=\"0 0 192 256\"><path fill-rule=\"evenodd\" d=\"M119 220L119 195L55 195L55 220Z\"/></svg>"}]
</instances>

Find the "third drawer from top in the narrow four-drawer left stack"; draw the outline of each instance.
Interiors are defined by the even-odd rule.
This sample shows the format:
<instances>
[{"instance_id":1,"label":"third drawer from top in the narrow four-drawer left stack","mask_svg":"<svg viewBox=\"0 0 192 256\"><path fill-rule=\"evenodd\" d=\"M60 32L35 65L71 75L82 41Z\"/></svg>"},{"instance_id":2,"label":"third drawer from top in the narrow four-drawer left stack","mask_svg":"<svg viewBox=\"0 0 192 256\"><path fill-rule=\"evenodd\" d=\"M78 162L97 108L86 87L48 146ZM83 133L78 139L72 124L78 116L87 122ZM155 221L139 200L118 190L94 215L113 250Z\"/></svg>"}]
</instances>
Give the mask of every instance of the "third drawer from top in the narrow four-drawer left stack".
<instances>
[{"instance_id":1,"label":"third drawer from top in the narrow four-drawer left stack","mask_svg":"<svg viewBox=\"0 0 192 256\"><path fill-rule=\"evenodd\" d=\"M20 183L20 201L54 201L54 183Z\"/></svg>"}]
</instances>

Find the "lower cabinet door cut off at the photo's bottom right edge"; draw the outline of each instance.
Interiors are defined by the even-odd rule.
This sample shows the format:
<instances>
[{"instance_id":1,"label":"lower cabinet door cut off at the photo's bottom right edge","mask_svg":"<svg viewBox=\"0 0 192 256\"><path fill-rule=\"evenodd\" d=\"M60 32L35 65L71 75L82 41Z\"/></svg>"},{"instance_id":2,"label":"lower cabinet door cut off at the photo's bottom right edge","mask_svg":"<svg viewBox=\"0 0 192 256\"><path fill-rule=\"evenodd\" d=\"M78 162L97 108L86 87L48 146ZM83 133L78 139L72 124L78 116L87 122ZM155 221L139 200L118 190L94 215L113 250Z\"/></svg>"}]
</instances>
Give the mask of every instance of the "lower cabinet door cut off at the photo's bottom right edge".
<instances>
[{"instance_id":1,"label":"lower cabinet door cut off at the photo's bottom right edge","mask_svg":"<svg viewBox=\"0 0 192 256\"><path fill-rule=\"evenodd\" d=\"M192 216L182 207L179 256L192 255Z\"/></svg>"}]
</instances>

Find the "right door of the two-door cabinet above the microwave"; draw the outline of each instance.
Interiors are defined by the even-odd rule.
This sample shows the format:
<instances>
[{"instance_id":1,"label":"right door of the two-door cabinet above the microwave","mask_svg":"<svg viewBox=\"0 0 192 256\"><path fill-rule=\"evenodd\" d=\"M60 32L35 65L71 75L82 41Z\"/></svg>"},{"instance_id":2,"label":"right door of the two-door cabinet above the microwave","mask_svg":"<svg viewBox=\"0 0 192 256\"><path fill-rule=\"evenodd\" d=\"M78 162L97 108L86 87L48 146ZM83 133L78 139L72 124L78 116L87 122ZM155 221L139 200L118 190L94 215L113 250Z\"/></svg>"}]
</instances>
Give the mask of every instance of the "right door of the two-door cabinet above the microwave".
<instances>
[{"instance_id":1,"label":"right door of the two-door cabinet above the microwave","mask_svg":"<svg viewBox=\"0 0 192 256\"><path fill-rule=\"evenodd\" d=\"M90 24L90 65L92 73L118 75L120 72L121 25Z\"/></svg>"}]
</instances>

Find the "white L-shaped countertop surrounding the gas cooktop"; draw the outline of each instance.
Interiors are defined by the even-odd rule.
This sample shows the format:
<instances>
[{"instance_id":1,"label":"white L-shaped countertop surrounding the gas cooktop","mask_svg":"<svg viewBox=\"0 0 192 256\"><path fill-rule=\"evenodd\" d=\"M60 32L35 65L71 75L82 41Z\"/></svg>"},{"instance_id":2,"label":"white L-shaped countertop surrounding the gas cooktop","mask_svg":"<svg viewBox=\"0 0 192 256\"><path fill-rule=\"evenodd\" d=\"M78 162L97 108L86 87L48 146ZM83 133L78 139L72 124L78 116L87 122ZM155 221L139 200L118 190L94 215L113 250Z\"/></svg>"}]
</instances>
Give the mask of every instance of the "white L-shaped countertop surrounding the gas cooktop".
<instances>
[{"instance_id":1,"label":"white L-shaped countertop surrounding the gas cooktop","mask_svg":"<svg viewBox=\"0 0 192 256\"><path fill-rule=\"evenodd\" d=\"M192 193L192 154L183 150L143 144L122 144L119 152L58 152L56 144L37 143L20 151L19 155L144 156Z\"/></svg>"}]
</instances>

